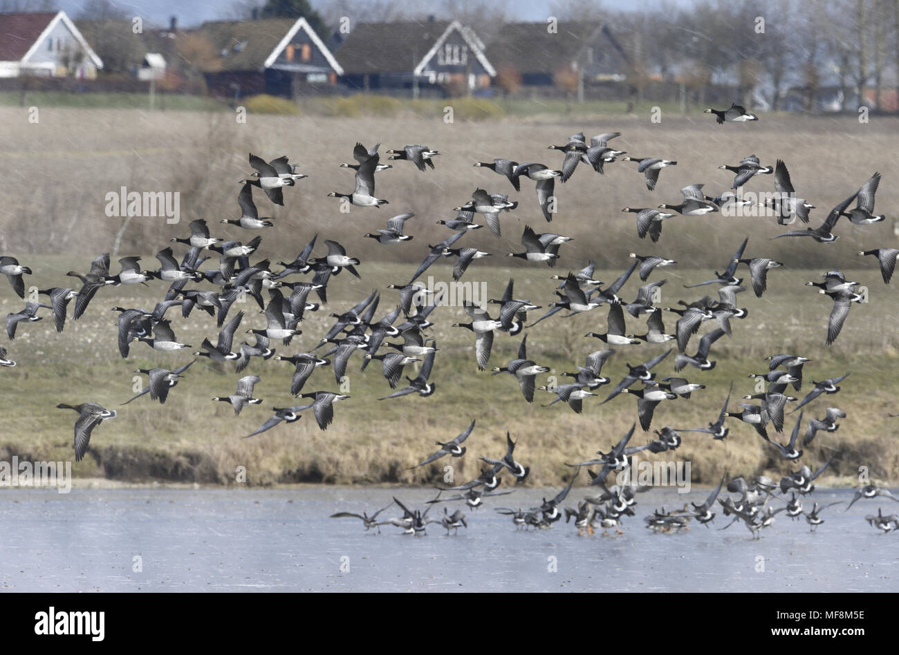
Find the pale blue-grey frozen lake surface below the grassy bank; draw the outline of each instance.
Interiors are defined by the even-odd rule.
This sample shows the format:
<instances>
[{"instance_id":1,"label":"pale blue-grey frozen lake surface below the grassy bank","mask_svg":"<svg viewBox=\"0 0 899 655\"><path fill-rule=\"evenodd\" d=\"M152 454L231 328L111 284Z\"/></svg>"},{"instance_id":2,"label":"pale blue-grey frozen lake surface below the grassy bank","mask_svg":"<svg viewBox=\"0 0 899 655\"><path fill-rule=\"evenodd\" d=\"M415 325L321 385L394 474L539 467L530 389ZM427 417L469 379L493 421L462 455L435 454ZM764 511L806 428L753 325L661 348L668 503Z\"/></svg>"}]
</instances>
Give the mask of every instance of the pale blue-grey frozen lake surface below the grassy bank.
<instances>
[{"instance_id":1,"label":"pale blue-grey frozen lake surface below the grassy bank","mask_svg":"<svg viewBox=\"0 0 899 655\"><path fill-rule=\"evenodd\" d=\"M572 490L574 506L583 489ZM718 511L711 529L655 534L654 509L702 502L707 490L638 495L623 535L577 536L564 519L516 531L498 506L530 508L556 491L519 490L475 511L445 536L366 532L337 511L370 513L396 495L423 508L432 491L298 487L280 490L12 489L0 493L0 589L9 591L899 591L899 534L864 517L891 500L826 509L809 532L782 512L760 540ZM804 504L852 498L816 490ZM777 500L770 500L775 508ZM459 503L449 505L450 512ZM438 515L442 506L432 509ZM718 508L720 510L720 508ZM385 510L378 518L402 516ZM136 570L136 569L139 569Z\"/></svg>"}]
</instances>

